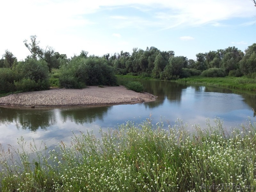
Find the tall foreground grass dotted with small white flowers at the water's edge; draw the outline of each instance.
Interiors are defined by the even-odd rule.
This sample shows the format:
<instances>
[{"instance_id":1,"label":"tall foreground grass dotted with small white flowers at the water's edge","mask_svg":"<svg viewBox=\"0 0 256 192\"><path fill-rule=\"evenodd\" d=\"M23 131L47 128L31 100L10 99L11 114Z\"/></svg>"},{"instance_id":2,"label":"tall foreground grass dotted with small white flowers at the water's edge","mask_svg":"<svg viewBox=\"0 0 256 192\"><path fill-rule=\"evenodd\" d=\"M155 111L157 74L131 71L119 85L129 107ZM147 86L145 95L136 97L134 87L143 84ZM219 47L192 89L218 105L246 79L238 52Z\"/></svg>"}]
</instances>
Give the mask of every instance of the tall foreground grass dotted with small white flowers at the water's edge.
<instances>
[{"instance_id":1,"label":"tall foreground grass dotted with small white flowers at the water's edge","mask_svg":"<svg viewBox=\"0 0 256 192\"><path fill-rule=\"evenodd\" d=\"M213 126L194 128L188 131L180 120L167 130L150 120L128 122L100 130L100 139L74 134L71 146L60 142L49 153L31 144L33 160L21 138L21 150L1 151L0 190L254 191L256 123L226 132L216 119Z\"/></svg>"}]
</instances>

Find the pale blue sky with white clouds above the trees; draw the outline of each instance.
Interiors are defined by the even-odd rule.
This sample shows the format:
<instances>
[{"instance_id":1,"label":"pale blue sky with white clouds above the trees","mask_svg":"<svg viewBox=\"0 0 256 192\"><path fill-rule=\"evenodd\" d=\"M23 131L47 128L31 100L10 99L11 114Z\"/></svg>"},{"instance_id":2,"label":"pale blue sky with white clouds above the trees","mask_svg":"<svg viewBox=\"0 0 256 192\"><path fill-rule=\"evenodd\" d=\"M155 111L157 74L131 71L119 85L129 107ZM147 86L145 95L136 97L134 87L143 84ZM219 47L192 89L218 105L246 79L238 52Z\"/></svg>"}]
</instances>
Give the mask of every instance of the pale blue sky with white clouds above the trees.
<instances>
[{"instance_id":1,"label":"pale blue sky with white clouds above the trees","mask_svg":"<svg viewBox=\"0 0 256 192\"><path fill-rule=\"evenodd\" d=\"M32 35L68 58L153 46L196 60L256 43L256 7L252 0L0 0L1 58L9 50L24 60Z\"/></svg>"}]
</instances>

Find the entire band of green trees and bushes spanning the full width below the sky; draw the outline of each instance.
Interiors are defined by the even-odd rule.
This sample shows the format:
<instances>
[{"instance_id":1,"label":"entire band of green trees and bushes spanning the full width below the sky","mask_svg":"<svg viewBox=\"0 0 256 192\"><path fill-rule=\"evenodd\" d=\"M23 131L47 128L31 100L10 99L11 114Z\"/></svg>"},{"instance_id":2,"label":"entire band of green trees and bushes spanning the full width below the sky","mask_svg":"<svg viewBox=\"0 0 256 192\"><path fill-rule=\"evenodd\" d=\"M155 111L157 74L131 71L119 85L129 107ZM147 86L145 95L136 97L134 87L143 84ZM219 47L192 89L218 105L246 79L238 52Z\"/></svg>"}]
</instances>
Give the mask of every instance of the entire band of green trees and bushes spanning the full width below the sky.
<instances>
[{"instance_id":1,"label":"entire band of green trees and bushes spanning the full width below the sky","mask_svg":"<svg viewBox=\"0 0 256 192\"><path fill-rule=\"evenodd\" d=\"M175 56L174 51L133 48L132 53L109 53L88 56L82 50L67 58L47 46L41 48L37 37L24 40L30 55L23 61L6 50L0 60L0 93L49 89L52 68L59 69L60 87L83 88L86 85L116 85L117 75L139 75L160 80L189 76L247 76L256 78L256 43L245 52L236 47L197 53L196 60Z\"/></svg>"}]
</instances>

